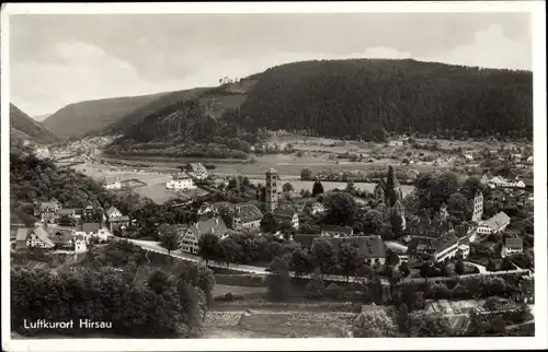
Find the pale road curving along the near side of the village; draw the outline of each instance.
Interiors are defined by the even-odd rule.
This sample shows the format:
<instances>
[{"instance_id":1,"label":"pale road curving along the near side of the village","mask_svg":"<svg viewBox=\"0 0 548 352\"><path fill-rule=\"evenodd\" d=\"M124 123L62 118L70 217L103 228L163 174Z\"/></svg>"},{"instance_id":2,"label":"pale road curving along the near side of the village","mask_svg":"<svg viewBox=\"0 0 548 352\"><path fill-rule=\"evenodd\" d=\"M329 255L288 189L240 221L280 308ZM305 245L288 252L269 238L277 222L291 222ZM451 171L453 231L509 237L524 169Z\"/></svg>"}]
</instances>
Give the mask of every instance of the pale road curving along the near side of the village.
<instances>
[{"instance_id":1,"label":"pale road curving along the near side of the village","mask_svg":"<svg viewBox=\"0 0 548 352\"><path fill-rule=\"evenodd\" d=\"M116 237L117 239L123 239L119 237ZM128 239L130 243L146 249L149 251L153 253L159 253L162 255L168 255L168 250L163 248L159 242L153 242L153 240L140 240L140 239ZM202 262L205 263L205 261L199 258L198 256L194 256L187 253L183 253L181 250L173 250L171 251L171 256L174 258L179 258L182 260L187 260L192 262ZM473 265L473 263L471 263ZM260 275L266 275L269 272L266 271L266 268L263 267L254 267L254 266L243 266L243 265L237 265L237 263L231 263L229 267L225 262L220 261L215 261L215 260L209 260L207 263L208 267L212 268L219 268L219 269L231 269L235 271L241 271L241 272L248 272L248 273L254 273L254 274L260 274ZM478 266L481 267L481 266ZM484 269L484 268L483 268ZM512 274L512 273L521 273L521 274L526 274L530 275L530 272L528 270L509 270L509 271L487 271L487 270L481 270L479 273L471 273L471 274L465 274L465 275L459 275L459 278L465 279L465 278L475 278L475 277L481 277L481 275L502 275L502 274ZM289 275L295 277L295 272L289 272ZM310 274L302 274L300 278L309 279L311 275ZM444 282L447 280L453 280L454 278L452 277L437 277L437 278L427 278L427 281L436 281L436 282ZM354 282L354 278L349 278L346 280L345 277L341 275L330 275L326 274L323 275L323 280L328 281L336 281L336 282ZM406 278L401 280L402 283L414 283L414 282L424 282L426 279L424 278ZM383 284L389 285L389 281L386 279L381 279Z\"/></svg>"}]
</instances>

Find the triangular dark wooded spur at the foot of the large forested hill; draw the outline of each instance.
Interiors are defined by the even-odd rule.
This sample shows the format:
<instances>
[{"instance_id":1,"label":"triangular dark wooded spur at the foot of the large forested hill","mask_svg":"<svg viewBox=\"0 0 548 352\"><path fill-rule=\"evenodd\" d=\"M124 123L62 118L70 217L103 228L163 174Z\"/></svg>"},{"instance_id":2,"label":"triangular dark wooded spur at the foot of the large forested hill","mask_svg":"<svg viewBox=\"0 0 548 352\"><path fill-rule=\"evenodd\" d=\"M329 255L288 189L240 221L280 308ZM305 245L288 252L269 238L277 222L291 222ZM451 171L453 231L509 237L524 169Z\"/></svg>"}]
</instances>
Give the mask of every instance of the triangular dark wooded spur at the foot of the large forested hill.
<instances>
[{"instance_id":1,"label":"triangular dark wooded spur at the foot of the large forested hill","mask_svg":"<svg viewBox=\"0 0 548 352\"><path fill-rule=\"evenodd\" d=\"M197 98L164 106L125 128L124 136L105 153L244 160L251 151L250 143L265 133L262 129L248 133L206 109Z\"/></svg>"}]
</instances>

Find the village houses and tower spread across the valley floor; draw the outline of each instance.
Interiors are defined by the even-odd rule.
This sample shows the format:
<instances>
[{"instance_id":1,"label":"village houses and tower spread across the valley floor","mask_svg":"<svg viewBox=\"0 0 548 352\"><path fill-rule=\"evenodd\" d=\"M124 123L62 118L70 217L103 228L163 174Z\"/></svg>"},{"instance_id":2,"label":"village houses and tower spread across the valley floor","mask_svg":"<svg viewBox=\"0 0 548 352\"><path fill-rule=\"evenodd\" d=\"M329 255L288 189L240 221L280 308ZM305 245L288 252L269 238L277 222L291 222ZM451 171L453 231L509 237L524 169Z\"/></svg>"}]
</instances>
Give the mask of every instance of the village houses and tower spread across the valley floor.
<instances>
[{"instance_id":1,"label":"village houses and tower spread across the valley floor","mask_svg":"<svg viewBox=\"0 0 548 352\"><path fill-rule=\"evenodd\" d=\"M50 157L44 150L42 146L36 148L36 156ZM533 206L530 185L525 185L520 178L505 179L501 176L490 177L487 174L476 177L480 183L479 189L489 190L489 197L486 199L484 191L476 190L469 201L470 218L464 219L463 225L453 226L448 220L455 218L454 210L448 209L445 202L433 218L413 214L406 209L403 203L408 195L402 191L403 186L390 171L391 167L387 176L376 183L373 192L364 193L355 190L350 180L345 189L334 189L323 195L323 190L318 189L308 192L293 191L292 187L287 186L290 184L284 183L279 173L271 167L264 172L264 186L260 186L262 196L251 201L233 203L204 201L201 199L204 196L196 196L195 191L202 190L203 195L209 195L212 191L227 189L230 183L236 183L236 186L232 186L238 189L243 187L238 186L239 183L246 183L242 177L215 176L202 163L189 163L167 179L163 188L180 196L193 192L186 198L181 197L186 200L173 206L194 212L195 221L171 225L156 223L157 233L152 236L161 238L167 233L174 233L176 244L168 245L165 248L161 240L135 237L144 224L114 207L104 209L99 202L89 202L81 208L68 208L56 199L49 199L34 203L34 216L39 219L39 222L32 227L16 230L13 250L78 255L87 253L90 247L126 238L151 253L195 262L206 260L210 267L222 269L228 268L236 255L227 253L222 255L220 254L222 250L201 246L212 240L221 248L221 244L233 234L244 233L254 238L275 238L281 244L297 246L308 254L320 251L326 243L332 248L334 257L341 256L344 248L352 247L356 250L356 258L361 258L364 265L372 268L389 266L390 270L402 272L404 275L402 282L408 284L416 284L425 279L436 284L452 278L465 280L482 275L490 278L514 275L518 278L515 281L517 291L509 298L498 300L496 306L502 307L500 309L504 312L517 309L520 303L527 304L529 308L533 306L534 269L530 262L528 267L520 267L523 266L523 260L516 261L516 258L522 258L520 256L525 251L532 250L530 245L524 243L524 237L518 231L506 230L513 221L509 214L515 213L516 209ZM124 188L122 184L116 179L103 181L102 186L109 191L119 191ZM315 188L317 186L323 188L319 179L313 185ZM392 223L388 225L392 228L393 218L398 218L396 223L401 227L398 230L401 236L393 235L396 228L392 228L391 235L385 235L378 231L375 234L370 234L368 230L357 232L350 225L326 223L310 225L310 219L322 219L327 212L334 211L326 198L333 191L352 195L356 214L366 214L367 218L368 213L375 211L380 214L380 223L385 223L385 226ZM491 207L492 202L498 202L498 211L494 213L491 211L491 214L486 216L484 209ZM369 234L366 235L366 232ZM496 242L500 245L496 245ZM480 247L483 251L479 251ZM228 249L225 248L226 250ZM215 253L212 254L213 251ZM205 253L210 254L205 255ZM260 275L270 274L267 266L230 263L230 270ZM295 271L290 271L289 274L298 275ZM308 274L308 278L312 277ZM328 270L323 278L332 282L349 281L336 270ZM355 279L350 278L351 282L353 280ZM377 303L378 307L384 309L384 304L391 301L391 292L389 281L381 282L384 282L381 300ZM486 308L484 300L447 301L442 295L437 300L427 300L424 312L438 314L443 310L453 321L455 331L464 331L469 321L464 320L463 313L455 313L458 309L452 310L458 302L468 306L463 312L470 312L471 308L480 314L495 314L500 310L493 307ZM492 305L492 300L489 302ZM372 306L364 305L363 309L372 309Z\"/></svg>"}]
</instances>

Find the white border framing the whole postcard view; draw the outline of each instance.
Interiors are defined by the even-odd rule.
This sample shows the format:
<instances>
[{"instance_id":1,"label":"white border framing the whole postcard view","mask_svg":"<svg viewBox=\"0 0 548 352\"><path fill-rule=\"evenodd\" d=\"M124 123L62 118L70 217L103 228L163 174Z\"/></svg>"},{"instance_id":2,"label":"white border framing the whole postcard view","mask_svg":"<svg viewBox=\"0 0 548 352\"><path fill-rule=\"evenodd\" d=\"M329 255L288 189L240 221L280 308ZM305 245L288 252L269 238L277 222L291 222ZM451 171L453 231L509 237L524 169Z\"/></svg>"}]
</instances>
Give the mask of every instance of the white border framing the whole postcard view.
<instances>
[{"instance_id":1,"label":"white border framing the whole postcard view","mask_svg":"<svg viewBox=\"0 0 548 352\"><path fill-rule=\"evenodd\" d=\"M204 340L11 340L9 300L9 22L8 14L113 13L332 13L332 12L528 12L534 31L535 152L535 338L429 339L204 339ZM416 349L546 349L547 239L546 195L546 7L544 1L475 2L238 2L238 3L10 3L1 12L1 220L2 220L2 349L7 351L251 351L251 350L416 350Z\"/></svg>"}]
</instances>

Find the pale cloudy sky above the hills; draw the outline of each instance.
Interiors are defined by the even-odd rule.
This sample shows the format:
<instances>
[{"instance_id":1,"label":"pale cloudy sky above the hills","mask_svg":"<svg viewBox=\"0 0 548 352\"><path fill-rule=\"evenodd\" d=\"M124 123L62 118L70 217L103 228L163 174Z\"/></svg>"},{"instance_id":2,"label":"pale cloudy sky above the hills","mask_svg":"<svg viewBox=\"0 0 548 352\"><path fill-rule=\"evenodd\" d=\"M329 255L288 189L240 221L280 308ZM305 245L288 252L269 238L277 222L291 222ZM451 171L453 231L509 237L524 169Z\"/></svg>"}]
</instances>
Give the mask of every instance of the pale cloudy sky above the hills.
<instances>
[{"instance_id":1,"label":"pale cloudy sky above the hills","mask_svg":"<svg viewBox=\"0 0 548 352\"><path fill-rule=\"evenodd\" d=\"M530 21L510 12L10 15L11 102L37 116L310 59L532 70Z\"/></svg>"}]
</instances>

